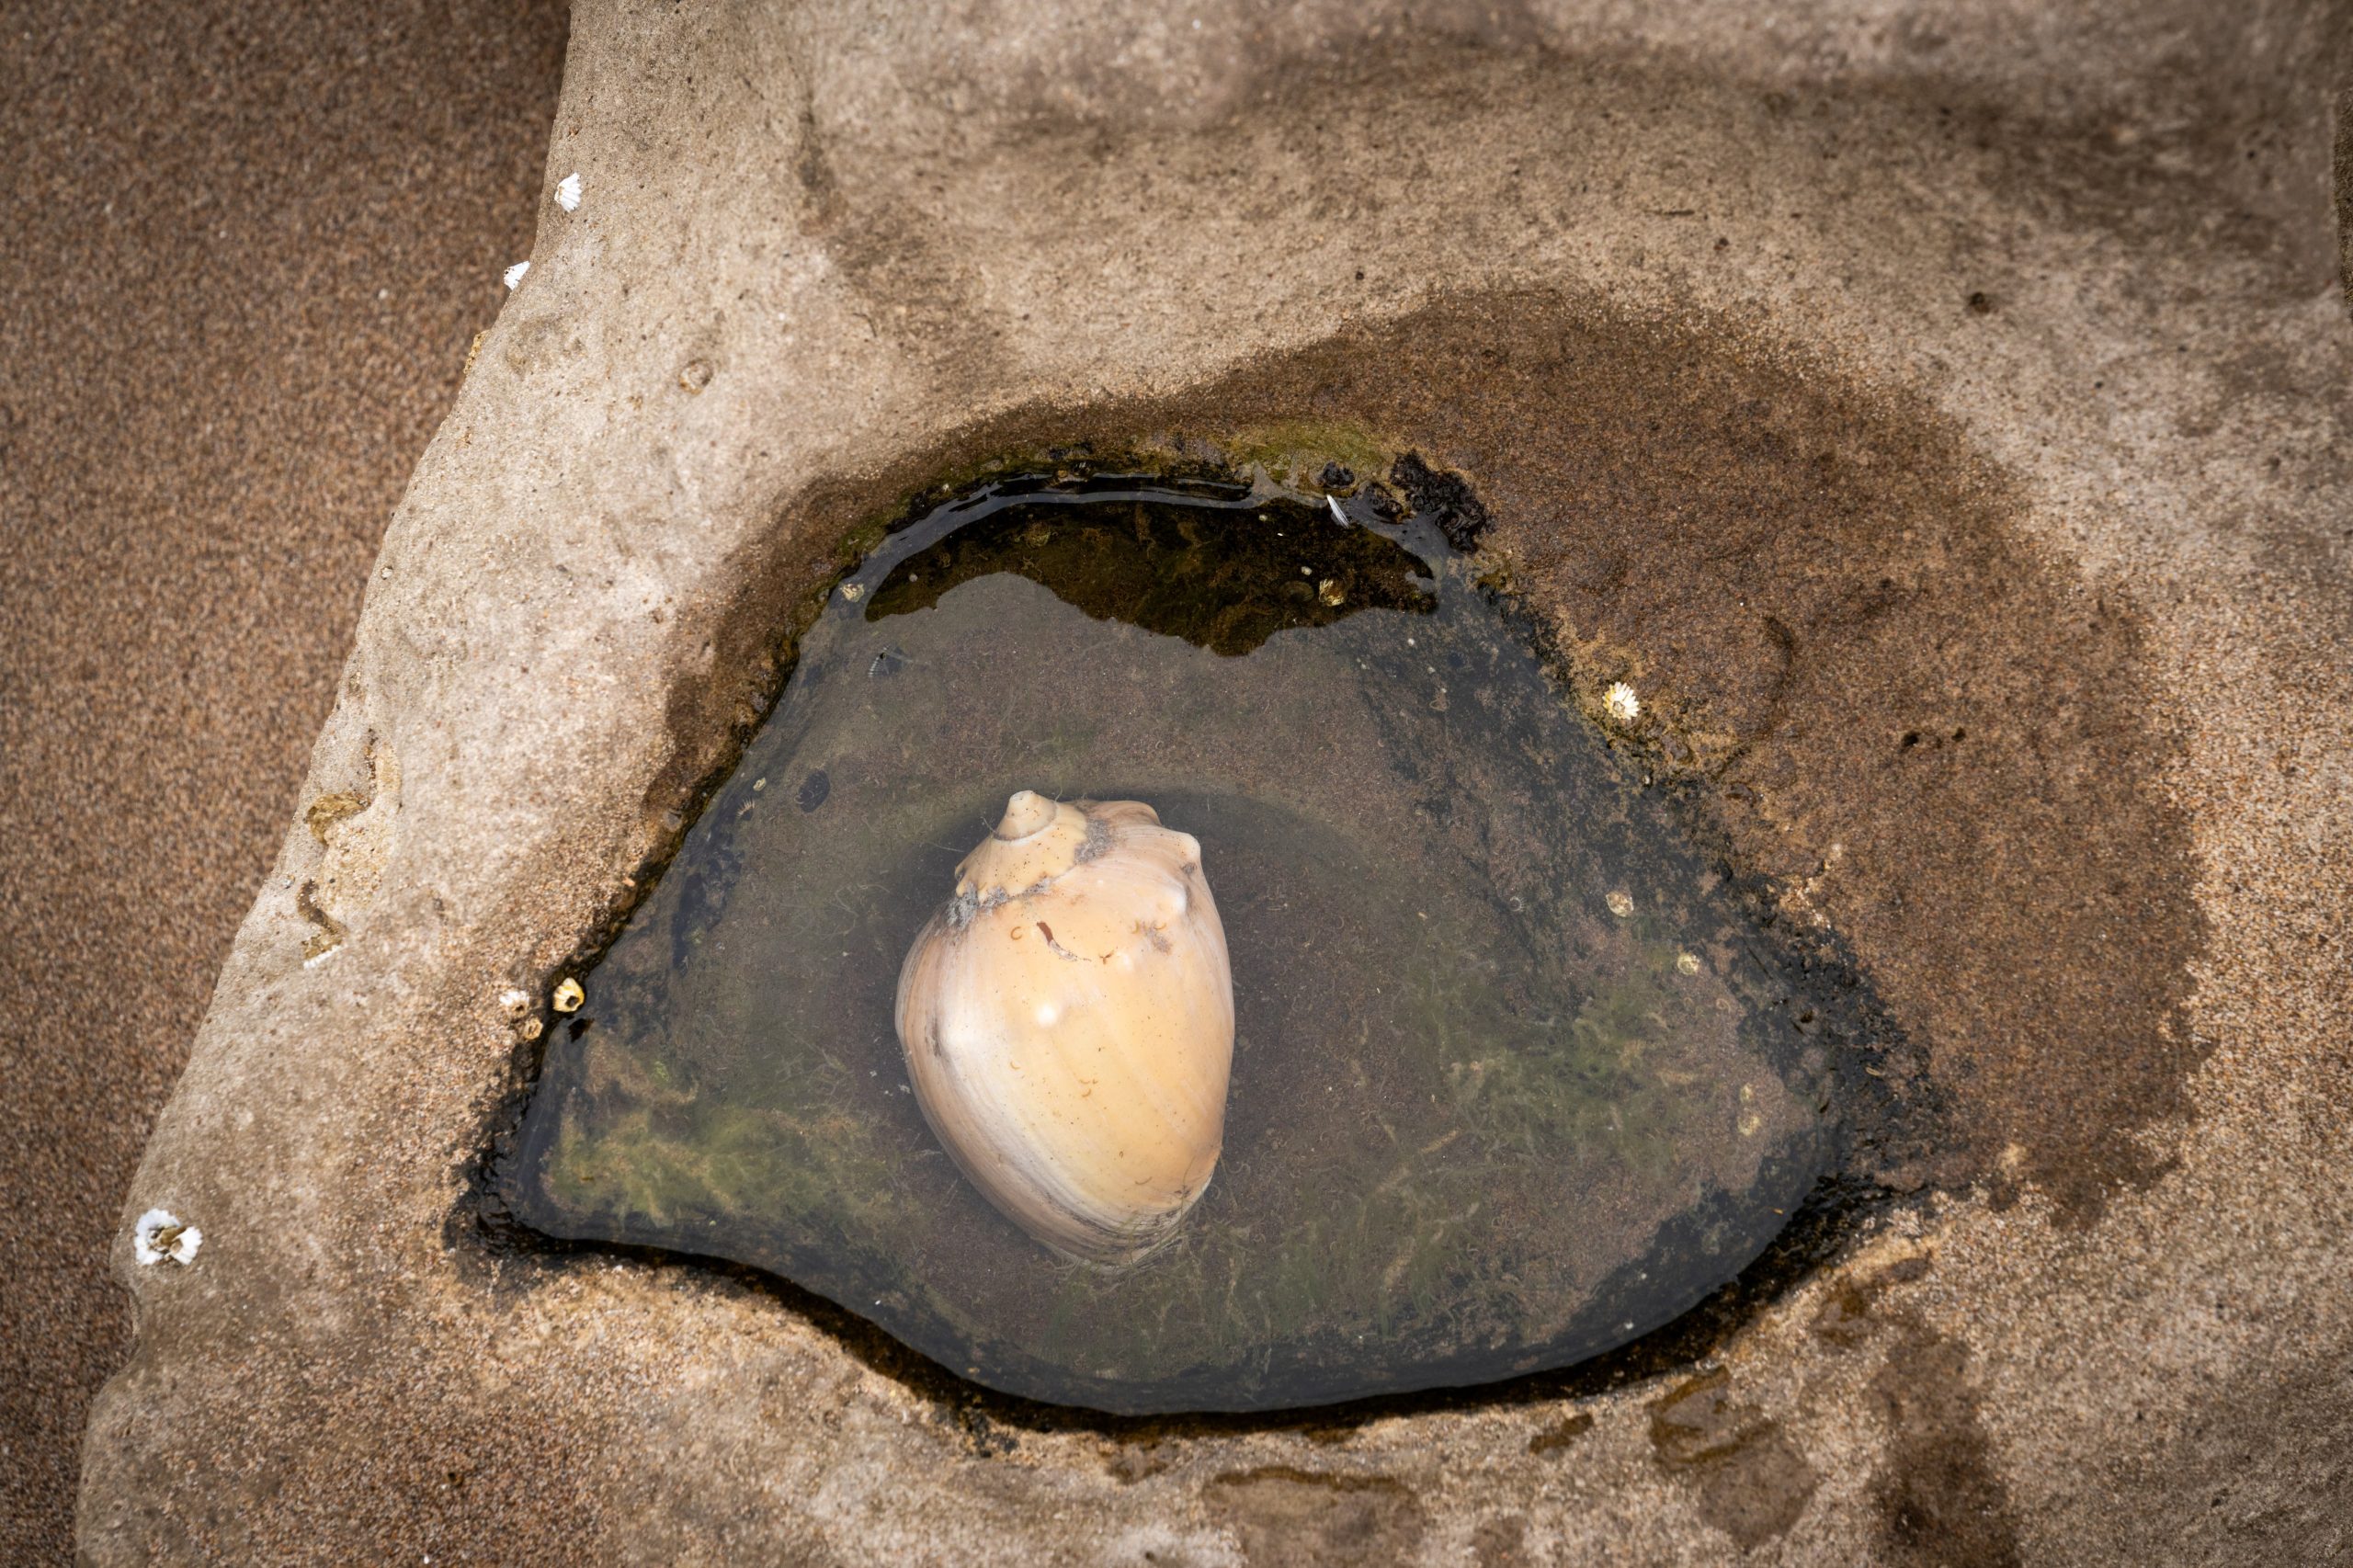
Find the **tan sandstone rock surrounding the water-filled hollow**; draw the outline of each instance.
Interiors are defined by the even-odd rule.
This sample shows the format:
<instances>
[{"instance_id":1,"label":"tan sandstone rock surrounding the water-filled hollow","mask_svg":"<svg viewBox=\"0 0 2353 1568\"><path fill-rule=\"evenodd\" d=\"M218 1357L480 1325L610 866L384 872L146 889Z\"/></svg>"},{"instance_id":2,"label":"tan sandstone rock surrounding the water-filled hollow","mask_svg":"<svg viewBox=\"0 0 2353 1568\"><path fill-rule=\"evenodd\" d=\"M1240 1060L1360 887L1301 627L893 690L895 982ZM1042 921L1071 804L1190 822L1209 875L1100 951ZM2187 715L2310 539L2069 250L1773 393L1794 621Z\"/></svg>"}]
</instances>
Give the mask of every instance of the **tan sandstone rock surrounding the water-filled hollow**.
<instances>
[{"instance_id":1,"label":"tan sandstone rock surrounding the water-filled hollow","mask_svg":"<svg viewBox=\"0 0 2353 1568\"><path fill-rule=\"evenodd\" d=\"M581 5L532 268L122 1208L82 1552L2353 1549L2348 38ZM492 1245L504 998L626 904L840 542L993 452L1285 421L1466 476L1579 695L1633 685L1852 944L1951 1107L1913 1196L1680 1370L1289 1422L1009 1408L758 1281ZM148 1208L193 1264L132 1262Z\"/></svg>"}]
</instances>

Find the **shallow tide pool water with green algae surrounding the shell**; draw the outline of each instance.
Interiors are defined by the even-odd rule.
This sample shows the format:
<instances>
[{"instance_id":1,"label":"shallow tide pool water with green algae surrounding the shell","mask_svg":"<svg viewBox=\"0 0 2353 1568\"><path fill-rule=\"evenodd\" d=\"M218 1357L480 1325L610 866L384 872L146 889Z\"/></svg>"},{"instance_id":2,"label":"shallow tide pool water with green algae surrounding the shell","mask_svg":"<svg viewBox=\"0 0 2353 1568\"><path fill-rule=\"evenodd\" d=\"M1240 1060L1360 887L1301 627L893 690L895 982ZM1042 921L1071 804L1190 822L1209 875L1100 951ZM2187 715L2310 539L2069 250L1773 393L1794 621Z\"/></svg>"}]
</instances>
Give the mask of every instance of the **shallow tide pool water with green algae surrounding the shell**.
<instances>
[{"instance_id":1,"label":"shallow tide pool water with green algae surrounding the shell","mask_svg":"<svg viewBox=\"0 0 2353 1568\"><path fill-rule=\"evenodd\" d=\"M1828 1163L1828 1001L1393 516L1377 487L995 487L894 534L586 977L513 1212L755 1264L1118 1413L1565 1366L1737 1274ZM962 1180L892 1029L1019 789L1193 833L1233 956L1224 1158L1125 1269Z\"/></svg>"}]
</instances>

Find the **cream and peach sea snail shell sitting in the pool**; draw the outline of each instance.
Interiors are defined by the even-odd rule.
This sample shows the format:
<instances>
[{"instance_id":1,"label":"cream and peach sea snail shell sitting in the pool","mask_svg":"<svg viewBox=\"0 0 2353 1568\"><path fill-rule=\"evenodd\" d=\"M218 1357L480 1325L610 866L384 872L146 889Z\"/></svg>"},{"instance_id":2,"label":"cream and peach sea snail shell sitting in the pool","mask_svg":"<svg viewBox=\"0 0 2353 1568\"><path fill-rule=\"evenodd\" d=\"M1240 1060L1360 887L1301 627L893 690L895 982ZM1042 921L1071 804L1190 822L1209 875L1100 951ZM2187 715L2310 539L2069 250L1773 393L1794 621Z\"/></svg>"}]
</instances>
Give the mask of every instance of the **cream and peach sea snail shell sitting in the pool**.
<instances>
[{"instance_id":1,"label":"cream and peach sea snail shell sitting in the pool","mask_svg":"<svg viewBox=\"0 0 2353 1568\"><path fill-rule=\"evenodd\" d=\"M1021 791L899 970L915 1104L1021 1229L1129 1262L1226 1137L1233 975L1200 841L1141 800Z\"/></svg>"}]
</instances>

